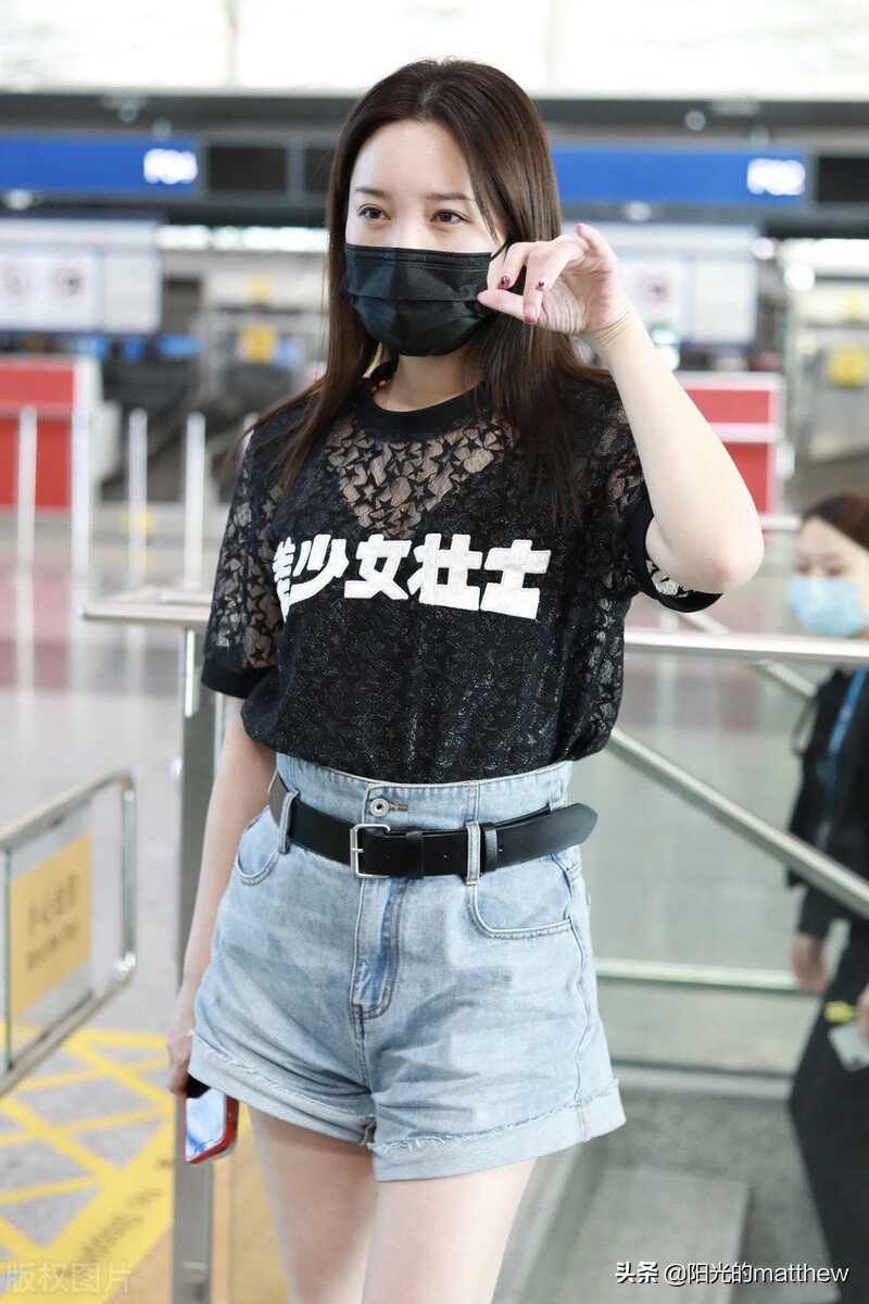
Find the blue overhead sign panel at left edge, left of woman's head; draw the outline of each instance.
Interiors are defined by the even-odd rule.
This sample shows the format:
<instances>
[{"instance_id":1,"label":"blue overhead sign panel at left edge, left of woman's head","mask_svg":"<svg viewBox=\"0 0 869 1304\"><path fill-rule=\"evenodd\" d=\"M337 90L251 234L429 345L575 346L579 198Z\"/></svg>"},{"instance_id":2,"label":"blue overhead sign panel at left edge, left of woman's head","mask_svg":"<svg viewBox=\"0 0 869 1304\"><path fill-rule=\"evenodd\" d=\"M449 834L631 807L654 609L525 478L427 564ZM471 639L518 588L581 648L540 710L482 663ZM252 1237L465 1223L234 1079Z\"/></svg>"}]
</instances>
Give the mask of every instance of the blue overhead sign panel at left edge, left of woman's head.
<instances>
[{"instance_id":1,"label":"blue overhead sign panel at left edge, left of woman's head","mask_svg":"<svg viewBox=\"0 0 869 1304\"><path fill-rule=\"evenodd\" d=\"M0 190L43 194L189 194L198 189L189 140L0 136Z\"/></svg>"}]
</instances>

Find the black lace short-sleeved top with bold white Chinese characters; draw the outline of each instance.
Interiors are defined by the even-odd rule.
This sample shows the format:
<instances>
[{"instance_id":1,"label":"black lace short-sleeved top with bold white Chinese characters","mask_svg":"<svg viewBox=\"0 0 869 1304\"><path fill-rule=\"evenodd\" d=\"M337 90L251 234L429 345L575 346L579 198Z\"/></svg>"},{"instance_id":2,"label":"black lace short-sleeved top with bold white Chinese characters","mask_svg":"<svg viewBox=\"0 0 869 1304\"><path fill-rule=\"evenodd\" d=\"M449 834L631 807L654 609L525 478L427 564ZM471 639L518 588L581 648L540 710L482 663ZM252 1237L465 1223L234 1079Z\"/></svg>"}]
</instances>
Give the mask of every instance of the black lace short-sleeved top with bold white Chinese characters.
<instances>
[{"instance_id":1,"label":"black lace short-sleeved top with bold white Chinese characters","mask_svg":"<svg viewBox=\"0 0 869 1304\"><path fill-rule=\"evenodd\" d=\"M283 502L266 433L229 509L202 681L246 698L248 733L275 751L393 782L578 759L615 722L634 593L715 600L648 561L637 451L597 389L577 393L582 512L567 529L465 398L388 412L366 383Z\"/></svg>"}]
</instances>

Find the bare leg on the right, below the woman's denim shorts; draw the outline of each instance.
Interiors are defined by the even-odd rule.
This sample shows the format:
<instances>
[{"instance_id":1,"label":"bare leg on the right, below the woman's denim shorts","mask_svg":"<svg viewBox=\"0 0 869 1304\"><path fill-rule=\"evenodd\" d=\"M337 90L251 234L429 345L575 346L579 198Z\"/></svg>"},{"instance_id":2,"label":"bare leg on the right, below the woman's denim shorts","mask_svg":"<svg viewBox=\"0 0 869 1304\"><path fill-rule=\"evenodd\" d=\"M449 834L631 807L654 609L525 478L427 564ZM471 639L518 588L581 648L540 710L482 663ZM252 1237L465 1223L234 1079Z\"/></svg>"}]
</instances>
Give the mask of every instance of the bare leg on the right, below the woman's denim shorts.
<instances>
[{"instance_id":1,"label":"bare leg on the right, below the woman's denim shorts","mask_svg":"<svg viewBox=\"0 0 869 1304\"><path fill-rule=\"evenodd\" d=\"M362 1304L490 1304L534 1162L382 1181Z\"/></svg>"}]
</instances>

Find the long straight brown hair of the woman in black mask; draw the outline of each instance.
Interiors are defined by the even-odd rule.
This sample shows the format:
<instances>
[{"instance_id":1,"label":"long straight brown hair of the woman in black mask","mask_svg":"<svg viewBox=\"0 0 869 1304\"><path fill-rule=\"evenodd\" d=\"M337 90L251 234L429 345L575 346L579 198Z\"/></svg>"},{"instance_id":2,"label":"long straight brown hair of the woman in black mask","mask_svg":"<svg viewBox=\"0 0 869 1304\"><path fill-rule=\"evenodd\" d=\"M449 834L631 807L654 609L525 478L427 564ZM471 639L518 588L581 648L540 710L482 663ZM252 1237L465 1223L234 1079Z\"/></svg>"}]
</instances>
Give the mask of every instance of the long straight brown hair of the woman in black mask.
<instances>
[{"instance_id":1,"label":"long straight brown hair of the woman in black mask","mask_svg":"<svg viewBox=\"0 0 869 1304\"><path fill-rule=\"evenodd\" d=\"M307 399L288 432L278 429L284 489L289 489L318 436L347 403L375 363L391 355L374 340L340 296L345 271L344 227L350 175L366 141L380 128L413 119L452 133L465 160L483 220L500 219L513 241L554 240L562 232L555 170L541 117L525 91L506 73L469 60L421 60L383 78L350 110L330 176L328 343L323 376L262 420ZM520 282L521 286L521 282ZM602 368L577 356L558 331L528 327L496 313L472 338L479 407L512 432L526 454L526 484L546 493L554 519L578 511L571 426L576 406L565 404L571 379L615 394ZM289 437L288 437L289 436Z\"/></svg>"}]
</instances>

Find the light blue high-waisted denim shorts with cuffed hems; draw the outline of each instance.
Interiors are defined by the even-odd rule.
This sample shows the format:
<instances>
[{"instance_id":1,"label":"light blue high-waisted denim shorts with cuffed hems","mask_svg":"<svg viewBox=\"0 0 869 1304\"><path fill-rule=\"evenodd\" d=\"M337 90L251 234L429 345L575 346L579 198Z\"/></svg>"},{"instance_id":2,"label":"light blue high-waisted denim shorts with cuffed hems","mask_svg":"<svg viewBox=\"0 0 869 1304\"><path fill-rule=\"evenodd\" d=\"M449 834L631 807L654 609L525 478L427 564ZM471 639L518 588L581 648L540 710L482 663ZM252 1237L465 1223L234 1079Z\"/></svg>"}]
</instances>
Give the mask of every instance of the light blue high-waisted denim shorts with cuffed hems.
<instances>
[{"instance_id":1,"label":"light blue high-waisted denim shorts with cuffed hems","mask_svg":"<svg viewBox=\"0 0 869 1304\"><path fill-rule=\"evenodd\" d=\"M580 848L479 875L479 824L565 805L571 762L391 784L296 756L293 794L348 822L469 829L468 871L360 879L248 825L195 999L190 1072L367 1146L378 1180L494 1168L624 1123L597 1008Z\"/></svg>"}]
</instances>

